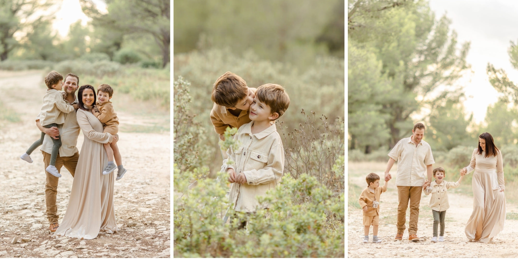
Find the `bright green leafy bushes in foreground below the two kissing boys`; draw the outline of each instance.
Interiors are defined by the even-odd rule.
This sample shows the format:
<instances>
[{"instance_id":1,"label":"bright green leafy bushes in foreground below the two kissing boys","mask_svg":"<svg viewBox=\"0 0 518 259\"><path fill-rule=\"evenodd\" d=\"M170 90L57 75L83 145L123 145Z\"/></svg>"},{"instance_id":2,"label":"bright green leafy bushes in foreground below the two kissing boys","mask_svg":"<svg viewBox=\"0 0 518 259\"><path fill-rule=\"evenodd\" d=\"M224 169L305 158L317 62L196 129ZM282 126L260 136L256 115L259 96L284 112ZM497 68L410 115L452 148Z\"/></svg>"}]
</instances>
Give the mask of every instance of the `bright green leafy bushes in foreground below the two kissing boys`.
<instances>
[{"instance_id":1,"label":"bright green leafy bushes in foreground below the two kissing boys","mask_svg":"<svg viewBox=\"0 0 518 259\"><path fill-rule=\"evenodd\" d=\"M334 195L314 177L283 177L281 188L260 199L270 209L245 216L244 231L231 227L235 220L223 224L226 183L204 178L206 170L174 168L175 257L344 256L343 194ZM225 179L224 172L218 178Z\"/></svg>"}]
</instances>

